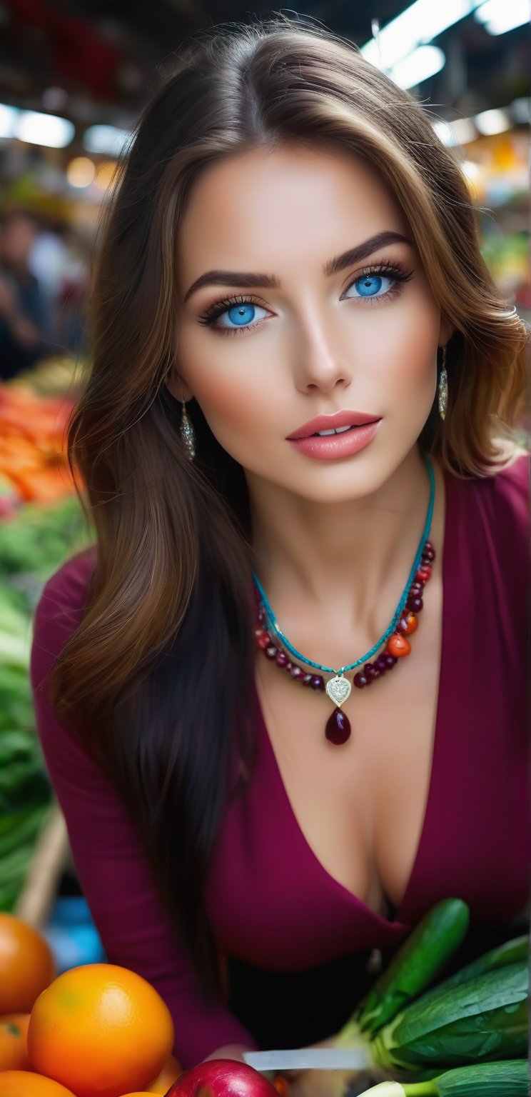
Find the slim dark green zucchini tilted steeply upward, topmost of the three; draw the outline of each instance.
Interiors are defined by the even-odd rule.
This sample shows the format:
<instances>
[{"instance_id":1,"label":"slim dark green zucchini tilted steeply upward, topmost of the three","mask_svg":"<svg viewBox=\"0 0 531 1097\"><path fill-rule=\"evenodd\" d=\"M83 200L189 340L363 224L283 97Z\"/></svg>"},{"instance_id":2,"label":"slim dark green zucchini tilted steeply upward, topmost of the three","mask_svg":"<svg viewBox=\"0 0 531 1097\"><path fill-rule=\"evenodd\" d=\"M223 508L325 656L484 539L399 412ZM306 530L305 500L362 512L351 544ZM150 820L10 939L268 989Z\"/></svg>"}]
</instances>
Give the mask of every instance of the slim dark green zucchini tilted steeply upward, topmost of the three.
<instances>
[{"instance_id":1,"label":"slim dark green zucchini tilted steeply upward, topmost of the three","mask_svg":"<svg viewBox=\"0 0 531 1097\"><path fill-rule=\"evenodd\" d=\"M468 928L470 912L461 898L444 898L425 915L397 950L358 1007L351 1021L336 1038L349 1042L354 1024L372 1037L416 998L461 945Z\"/></svg>"}]
</instances>

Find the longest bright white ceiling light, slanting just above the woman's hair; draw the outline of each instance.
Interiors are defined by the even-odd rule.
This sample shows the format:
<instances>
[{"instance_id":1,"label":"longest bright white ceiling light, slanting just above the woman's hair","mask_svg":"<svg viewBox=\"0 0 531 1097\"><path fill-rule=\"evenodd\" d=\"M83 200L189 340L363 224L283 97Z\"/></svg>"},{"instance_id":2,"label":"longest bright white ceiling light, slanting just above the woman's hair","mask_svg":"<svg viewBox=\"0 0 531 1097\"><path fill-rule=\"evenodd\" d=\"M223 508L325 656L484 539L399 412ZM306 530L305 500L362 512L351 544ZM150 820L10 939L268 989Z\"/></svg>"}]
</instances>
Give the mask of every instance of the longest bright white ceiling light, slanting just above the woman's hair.
<instances>
[{"instance_id":1,"label":"longest bright white ceiling light, slanting just above the woman's hair","mask_svg":"<svg viewBox=\"0 0 531 1097\"><path fill-rule=\"evenodd\" d=\"M389 69L417 46L431 42L477 8L479 0L416 0L371 38L361 52L368 61Z\"/></svg>"}]
</instances>

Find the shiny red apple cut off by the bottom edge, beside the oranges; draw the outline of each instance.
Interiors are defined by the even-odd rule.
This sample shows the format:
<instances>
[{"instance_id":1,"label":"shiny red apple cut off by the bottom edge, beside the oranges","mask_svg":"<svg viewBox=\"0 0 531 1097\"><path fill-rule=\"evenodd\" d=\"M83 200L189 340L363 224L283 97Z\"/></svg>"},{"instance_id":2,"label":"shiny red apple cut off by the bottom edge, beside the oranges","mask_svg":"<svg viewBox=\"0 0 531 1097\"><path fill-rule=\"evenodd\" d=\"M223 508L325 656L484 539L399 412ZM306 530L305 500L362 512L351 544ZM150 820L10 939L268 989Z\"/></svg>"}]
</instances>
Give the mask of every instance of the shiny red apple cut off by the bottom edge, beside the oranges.
<instances>
[{"instance_id":1,"label":"shiny red apple cut off by the bottom edge, beside the oranges","mask_svg":"<svg viewBox=\"0 0 531 1097\"><path fill-rule=\"evenodd\" d=\"M173 1083L166 1097L278 1097L276 1089L247 1063L208 1059Z\"/></svg>"}]
</instances>

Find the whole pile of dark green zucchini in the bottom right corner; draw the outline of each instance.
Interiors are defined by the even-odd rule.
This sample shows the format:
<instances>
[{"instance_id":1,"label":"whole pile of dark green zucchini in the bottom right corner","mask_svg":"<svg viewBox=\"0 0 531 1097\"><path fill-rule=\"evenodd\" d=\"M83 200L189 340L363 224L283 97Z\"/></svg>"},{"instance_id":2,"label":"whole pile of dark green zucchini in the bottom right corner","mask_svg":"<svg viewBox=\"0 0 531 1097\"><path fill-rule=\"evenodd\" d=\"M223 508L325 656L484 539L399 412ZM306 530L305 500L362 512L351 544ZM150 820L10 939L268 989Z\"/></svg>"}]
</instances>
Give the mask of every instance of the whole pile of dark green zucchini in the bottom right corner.
<instances>
[{"instance_id":1,"label":"whole pile of dark green zucchini in the bottom right corner","mask_svg":"<svg viewBox=\"0 0 531 1097\"><path fill-rule=\"evenodd\" d=\"M528 1093L529 940L493 949L432 985L468 927L460 898L419 923L335 1040L394 1076L374 1097L511 1097Z\"/></svg>"}]
</instances>

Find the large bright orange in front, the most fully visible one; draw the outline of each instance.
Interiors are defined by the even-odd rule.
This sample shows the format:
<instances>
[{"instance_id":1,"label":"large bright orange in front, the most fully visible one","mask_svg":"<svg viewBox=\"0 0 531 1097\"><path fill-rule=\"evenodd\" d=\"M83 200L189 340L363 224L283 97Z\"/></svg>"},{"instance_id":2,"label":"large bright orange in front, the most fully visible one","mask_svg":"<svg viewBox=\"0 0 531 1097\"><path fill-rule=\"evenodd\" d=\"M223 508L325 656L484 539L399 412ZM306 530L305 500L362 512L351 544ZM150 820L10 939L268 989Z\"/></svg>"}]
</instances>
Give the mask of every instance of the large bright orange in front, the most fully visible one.
<instances>
[{"instance_id":1,"label":"large bright orange in front, the most fully visible one","mask_svg":"<svg viewBox=\"0 0 531 1097\"><path fill-rule=\"evenodd\" d=\"M30 1018L32 1065L77 1097L121 1097L149 1085L173 1045L173 1022L140 975L110 963L72 968L43 991Z\"/></svg>"}]
</instances>

